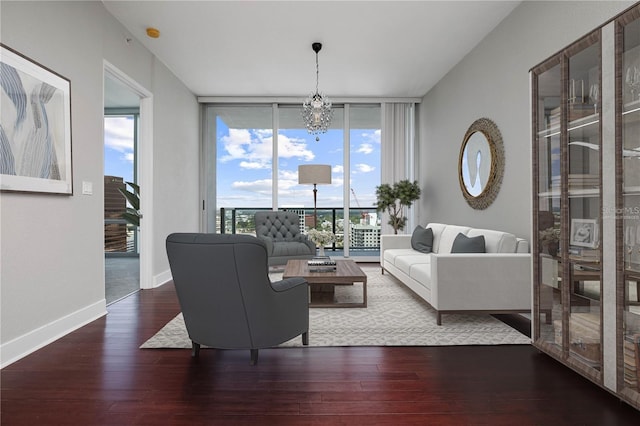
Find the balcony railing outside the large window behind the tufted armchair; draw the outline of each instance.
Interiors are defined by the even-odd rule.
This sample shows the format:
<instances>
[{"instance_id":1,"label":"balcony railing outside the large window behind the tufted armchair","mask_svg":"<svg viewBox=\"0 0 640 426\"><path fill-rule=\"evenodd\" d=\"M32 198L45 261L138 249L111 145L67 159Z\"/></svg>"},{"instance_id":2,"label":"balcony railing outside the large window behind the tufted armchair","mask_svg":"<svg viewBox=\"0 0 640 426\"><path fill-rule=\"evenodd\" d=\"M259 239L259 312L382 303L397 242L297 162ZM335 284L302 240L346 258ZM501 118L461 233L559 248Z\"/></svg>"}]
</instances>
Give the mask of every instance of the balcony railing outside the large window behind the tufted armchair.
<instances>
[{"instance_id":1,"label":"balcony railing outside the large window behind the tufted armchair","mask_svg":"<svg viewBox=\"0 0 640 426\"><path fill-rule=\"evenodd\" d=\"M257 211L272 210L269 207L227 207L220 208L216 218L216 232L221 234L253 234L255 235L254 215ZM313 209L283 208L297 212L301 217L301 231L314 227ZM344 235L344 209L340 207L324 207L317 209L318 229L332 231L338 237ZM349 210L348 222L351 226L349 251L352 255L376 255L380 251L380 218L375 207ZM304 229L302 229L304 228ZM325 247L337 252L342 251L343 238Z\"/></svg>"}]
</instances>

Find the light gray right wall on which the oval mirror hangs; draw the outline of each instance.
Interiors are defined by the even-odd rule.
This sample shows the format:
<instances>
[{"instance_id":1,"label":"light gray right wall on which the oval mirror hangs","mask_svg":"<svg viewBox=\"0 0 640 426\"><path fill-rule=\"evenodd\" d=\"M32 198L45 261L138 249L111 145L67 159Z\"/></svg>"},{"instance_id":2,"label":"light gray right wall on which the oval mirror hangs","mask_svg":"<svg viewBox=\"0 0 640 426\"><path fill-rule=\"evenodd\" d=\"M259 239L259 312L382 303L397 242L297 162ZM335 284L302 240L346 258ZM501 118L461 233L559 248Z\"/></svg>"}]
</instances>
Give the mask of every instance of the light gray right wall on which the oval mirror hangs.
<instances>
[{"instance_id":1,"label":"light gray right wall on which the oval mirror hangs","mask_svg":"<svg viewBox=\"0 0 640 426\"><path fill-rule=\"evenodd\" d=\"M500 229L531 240L529 70L633 3L523 2L425 95L419 105L419 223ZM493 204L474 210L460 190L458 156L468 127L482 117L502 133L505 173Z\"/></svg>"}]
</instances>

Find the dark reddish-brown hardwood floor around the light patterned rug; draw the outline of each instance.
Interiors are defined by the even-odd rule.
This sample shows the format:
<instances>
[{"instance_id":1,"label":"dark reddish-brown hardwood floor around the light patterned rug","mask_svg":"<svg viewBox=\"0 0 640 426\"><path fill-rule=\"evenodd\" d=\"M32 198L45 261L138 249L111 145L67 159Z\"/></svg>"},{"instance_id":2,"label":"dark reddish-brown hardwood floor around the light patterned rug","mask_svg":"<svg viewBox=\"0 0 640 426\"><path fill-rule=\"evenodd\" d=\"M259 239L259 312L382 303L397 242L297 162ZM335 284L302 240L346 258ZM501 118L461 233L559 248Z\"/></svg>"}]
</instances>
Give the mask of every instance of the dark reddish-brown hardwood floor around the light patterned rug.
<instances>
[{"instance_id":1,"label":"dark reddish-brown hardwood floor around the light patterned rug","mask_svg":"<svg viewBox=\"0 0 640 426\"><path fill-rule=\"evenodd\" d=\"M528 345L141 350L173 286L0 372L3 425L640 425L640 412Z\"/></svg>"}]
</instances>

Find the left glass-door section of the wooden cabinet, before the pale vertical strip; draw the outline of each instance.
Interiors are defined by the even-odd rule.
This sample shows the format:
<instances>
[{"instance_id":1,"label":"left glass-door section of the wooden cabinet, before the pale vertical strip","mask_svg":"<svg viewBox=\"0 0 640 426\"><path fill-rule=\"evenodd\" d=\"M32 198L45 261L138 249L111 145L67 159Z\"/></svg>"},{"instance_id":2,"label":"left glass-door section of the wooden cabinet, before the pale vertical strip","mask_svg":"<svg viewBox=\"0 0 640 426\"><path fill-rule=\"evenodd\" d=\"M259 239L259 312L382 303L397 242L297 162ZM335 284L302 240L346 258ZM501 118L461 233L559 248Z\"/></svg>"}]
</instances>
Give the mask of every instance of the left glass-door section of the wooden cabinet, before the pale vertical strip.
<instances>
[{"instance_id":1,"label":"left glass-door section of the wooden cabinet, before the pale vertical strip","mask_svg":"<svg viewBox=\"0 0 640 426\"><path fill-rule=\"evenodd\" d=\"M534 341L601 379L601 42L596 31L532 71Z\"/></svg>"}]
</instances>

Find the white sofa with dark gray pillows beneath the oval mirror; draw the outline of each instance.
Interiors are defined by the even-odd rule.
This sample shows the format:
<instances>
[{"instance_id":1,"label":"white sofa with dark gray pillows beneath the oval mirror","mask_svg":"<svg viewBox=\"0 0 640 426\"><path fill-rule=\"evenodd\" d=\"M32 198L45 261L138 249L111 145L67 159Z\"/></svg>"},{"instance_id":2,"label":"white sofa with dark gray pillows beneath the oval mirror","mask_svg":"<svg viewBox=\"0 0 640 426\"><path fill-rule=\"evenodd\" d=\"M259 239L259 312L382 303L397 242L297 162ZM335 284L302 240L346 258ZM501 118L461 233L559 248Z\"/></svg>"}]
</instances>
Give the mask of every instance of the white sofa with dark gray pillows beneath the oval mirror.
<instances>
[{"instance_id":1,"label":"white sofa with dark gray pillows beneath the oval mirror","mask_svg":"<svg viewBox=\"0 0 640 426\"><path fill-rule=\"evenodd\" d=\"M437 312L530 312L529 243L507 232L430 223L431 253L411 248L411 235L382 235L380 265ZM462 233L483 235L486 253L451 253Z\"/></svg>"}]
</instances>

